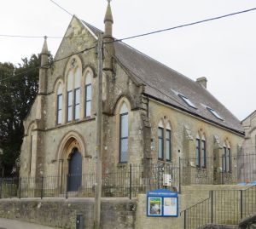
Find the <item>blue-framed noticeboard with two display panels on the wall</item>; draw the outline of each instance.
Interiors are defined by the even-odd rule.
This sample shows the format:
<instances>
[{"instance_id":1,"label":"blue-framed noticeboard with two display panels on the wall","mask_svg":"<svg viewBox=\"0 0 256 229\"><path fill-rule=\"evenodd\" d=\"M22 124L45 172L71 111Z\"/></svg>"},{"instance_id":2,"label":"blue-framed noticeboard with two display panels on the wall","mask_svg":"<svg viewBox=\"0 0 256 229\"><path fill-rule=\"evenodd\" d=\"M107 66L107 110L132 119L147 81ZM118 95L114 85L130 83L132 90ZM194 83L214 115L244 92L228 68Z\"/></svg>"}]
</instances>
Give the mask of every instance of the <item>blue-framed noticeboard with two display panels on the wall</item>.
<instances>
[{"instance_id":1,"label":"blue-framed noticeboard with two display panels on the wall","mask_svg":"<svg viewBox=\"0 0 256 229\"><path fill-rule=\"evenodd\" d=\"M147 192L148 217L177 217L177 192L166 189L157 189Z\"/></svg>"}]
</instances>

